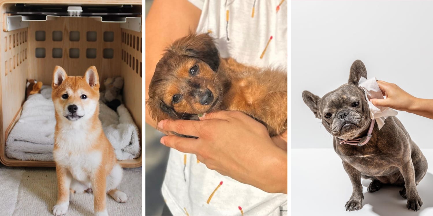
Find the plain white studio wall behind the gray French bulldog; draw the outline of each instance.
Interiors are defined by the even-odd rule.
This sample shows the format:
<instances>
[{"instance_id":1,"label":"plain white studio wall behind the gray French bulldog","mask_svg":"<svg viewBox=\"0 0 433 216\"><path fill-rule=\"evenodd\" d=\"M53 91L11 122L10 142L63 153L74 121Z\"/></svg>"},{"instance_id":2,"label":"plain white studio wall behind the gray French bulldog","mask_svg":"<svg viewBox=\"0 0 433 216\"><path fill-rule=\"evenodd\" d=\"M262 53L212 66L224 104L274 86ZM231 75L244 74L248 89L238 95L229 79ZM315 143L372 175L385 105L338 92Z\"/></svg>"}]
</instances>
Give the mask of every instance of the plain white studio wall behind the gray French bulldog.
<instances>
[{"instance_id":1,"label":"plain white studio wall behind the gray French bulldog","mask_svg":"<svg viewBox=\"0 0 433 216\"><path fill-rule=\"evenodd\" d=\"M322 97L347 83L356 59L368 78L433 99L432 11L433 1L292 1L291 147L333 147L301 93ZM433 148L433 120L398 112L412 140Z\"/></svg>"}]
</instances>

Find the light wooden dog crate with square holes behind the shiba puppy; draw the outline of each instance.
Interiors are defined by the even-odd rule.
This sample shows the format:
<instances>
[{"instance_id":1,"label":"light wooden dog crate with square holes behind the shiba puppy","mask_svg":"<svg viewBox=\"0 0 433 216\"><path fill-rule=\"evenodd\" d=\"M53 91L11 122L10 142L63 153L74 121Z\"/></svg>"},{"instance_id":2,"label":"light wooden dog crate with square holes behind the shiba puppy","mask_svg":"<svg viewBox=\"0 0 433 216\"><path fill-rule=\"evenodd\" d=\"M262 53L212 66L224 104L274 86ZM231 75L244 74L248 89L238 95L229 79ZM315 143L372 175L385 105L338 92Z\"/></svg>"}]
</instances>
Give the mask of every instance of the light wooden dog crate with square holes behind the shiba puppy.
<instances>
[{"instance_id":1,"label":"light wooden dog crate with square holes behind the shiba puppy","mask_svg":"<svg viewBox=\"0 0 433 216\"><path fill-rule=\"evenodd\" d=\"M18 3L18 4L17 4ZM20 15L18 6L82 6L129 8L129 15L71 16ZM140 0L0 0L0 161L7 166L55 166L54 162L21 161L5 154L6 138L19 120L25 100L26 79L52 83L56 65L70 76L83 76L96 66L101 90L107 77L124 79L123 104L142 132L142 2ZM23 10L26 12L29 10ZM40 11L40 10L37 10ZM38 13L36 13L38 14ZM112 19L111 19L112 18ZM35 20L36 19L36 20ZM142 146L142 141L140 145ZM120 161L139 167L138 159Z\"/></svg>"}]
</instances>

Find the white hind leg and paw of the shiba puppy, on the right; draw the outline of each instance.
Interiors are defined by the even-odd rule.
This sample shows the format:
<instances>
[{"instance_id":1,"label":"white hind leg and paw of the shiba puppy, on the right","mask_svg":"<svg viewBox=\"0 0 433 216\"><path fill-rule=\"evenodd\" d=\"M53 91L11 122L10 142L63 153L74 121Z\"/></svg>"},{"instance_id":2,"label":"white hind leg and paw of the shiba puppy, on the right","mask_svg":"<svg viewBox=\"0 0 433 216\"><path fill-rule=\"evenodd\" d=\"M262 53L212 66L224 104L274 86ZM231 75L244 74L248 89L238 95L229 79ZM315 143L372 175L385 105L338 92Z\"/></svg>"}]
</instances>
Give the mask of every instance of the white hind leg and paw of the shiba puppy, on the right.
<instances>
[{"instance_id":1,"label":"white hind leg and paw of the shiba puppy, on the right","mask_svg":"<svg viewBox=\"0 0 433 216\"><path fill-rule=\"evenodd\" d=\"M107 193L119 203L124 203L128 199L123 191L116 188L120 184L120 181L122 181L122 176L123 170L119 164L114 165L110 175L107 176Z\"/></svg>"}]
</instances>

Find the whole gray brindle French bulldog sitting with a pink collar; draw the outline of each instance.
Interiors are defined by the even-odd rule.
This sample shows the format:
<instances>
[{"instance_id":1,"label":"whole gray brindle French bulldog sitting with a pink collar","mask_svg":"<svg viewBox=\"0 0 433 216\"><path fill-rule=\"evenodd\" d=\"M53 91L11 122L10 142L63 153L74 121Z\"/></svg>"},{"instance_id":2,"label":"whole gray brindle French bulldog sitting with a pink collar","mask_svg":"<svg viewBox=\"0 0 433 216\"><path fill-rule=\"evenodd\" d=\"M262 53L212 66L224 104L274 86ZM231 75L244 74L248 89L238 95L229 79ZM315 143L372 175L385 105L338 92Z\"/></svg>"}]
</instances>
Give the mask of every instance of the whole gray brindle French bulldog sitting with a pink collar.
<instances>
[{"instance_id":1,"label":"whole gray brindle French bulldog sitting with a pink collar","mask_svg":"<svg viewBox=\"0 0 433 216\"><path fill-rule=\"evenodd\" d=\"M334 150L352 182L346 211L362 208L361 178L372 180L368 192L378 191L383 184L403 186L400 195L407 198L406 207L417 211L423 205L417 184L427 172L427 160L396 117L388 117L381 130L375 124L372 138L364 146L339 144L339 138L365 137L372 121L365 93L357 85L361 76L367 78L367 70L362 61L355 60L348 83L322 98L302 92L305 104L334 136Z\"/></svg>"}]
</instances>

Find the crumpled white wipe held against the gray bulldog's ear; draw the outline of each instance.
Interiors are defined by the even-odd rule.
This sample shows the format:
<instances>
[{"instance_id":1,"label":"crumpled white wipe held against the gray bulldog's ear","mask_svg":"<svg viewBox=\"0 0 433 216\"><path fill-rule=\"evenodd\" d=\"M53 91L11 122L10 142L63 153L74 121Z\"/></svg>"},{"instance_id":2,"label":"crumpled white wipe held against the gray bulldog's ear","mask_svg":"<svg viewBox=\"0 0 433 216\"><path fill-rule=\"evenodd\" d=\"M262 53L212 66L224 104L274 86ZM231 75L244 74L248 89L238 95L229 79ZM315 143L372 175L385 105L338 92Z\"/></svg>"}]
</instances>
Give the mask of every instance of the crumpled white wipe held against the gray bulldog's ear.
<instances>
[{"instance_id":1,"label":"crumpled white wipe held against the gray bulldog's ear","mask_svg":"<svg viewBox=\"0 0 433 216\"><path fill-rule=\"evenodd\" d=\"M388 107L375 106L370 102L371 98L383 99L383 94L379 88L376 77L366 79L361 76L358 86L364 90L365 98L368 102L368 108L370 109L370 118L376 120L380 130L385 124L385 119L389 116L397 115L398 112Z\"/></svg>"}]
</instances>

